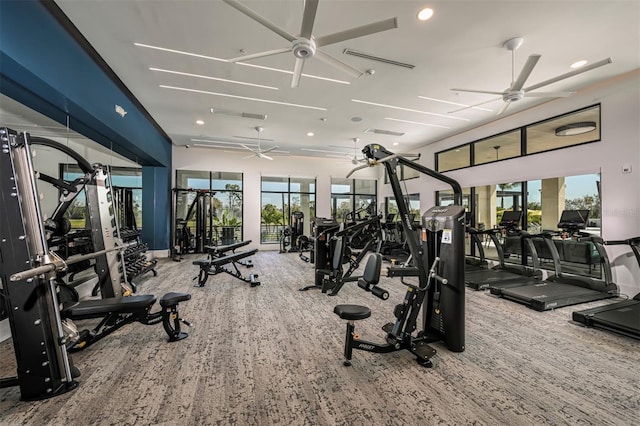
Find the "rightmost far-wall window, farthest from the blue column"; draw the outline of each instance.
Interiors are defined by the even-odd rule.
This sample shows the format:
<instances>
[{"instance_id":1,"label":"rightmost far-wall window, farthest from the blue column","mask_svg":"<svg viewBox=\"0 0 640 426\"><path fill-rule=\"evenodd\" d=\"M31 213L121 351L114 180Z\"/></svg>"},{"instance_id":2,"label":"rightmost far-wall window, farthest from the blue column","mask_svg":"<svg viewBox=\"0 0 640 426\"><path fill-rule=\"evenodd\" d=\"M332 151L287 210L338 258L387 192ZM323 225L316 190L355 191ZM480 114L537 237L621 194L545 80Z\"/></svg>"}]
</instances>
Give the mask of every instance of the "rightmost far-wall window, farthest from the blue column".
<instances>
[{"instance_id":1,"label":"rightmost far-wall window, farthest from the blue column","mask_svg":"<svg viewBox=\"0 0 640 426\"><path fill-rule=\"evenodd\" d=\"M331 178L331 217L338 222L357 219L367 209L377 214L376 200L375 180Z\"/></svg>"}]
</instances>

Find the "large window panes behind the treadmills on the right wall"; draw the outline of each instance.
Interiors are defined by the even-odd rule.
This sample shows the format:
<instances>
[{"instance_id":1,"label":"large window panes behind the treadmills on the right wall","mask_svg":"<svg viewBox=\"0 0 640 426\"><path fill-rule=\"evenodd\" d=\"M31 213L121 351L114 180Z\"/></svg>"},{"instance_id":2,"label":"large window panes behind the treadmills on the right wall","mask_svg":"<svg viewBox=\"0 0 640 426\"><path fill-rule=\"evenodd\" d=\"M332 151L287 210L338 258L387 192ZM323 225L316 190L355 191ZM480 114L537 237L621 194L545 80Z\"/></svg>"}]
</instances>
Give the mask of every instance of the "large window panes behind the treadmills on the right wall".
<instances>
[{"instance_id":1,"label":"large window panes behind the treadmills on the right wall","mask_svg":"<svg viewBox=\"0 0 640 426\"><path fill-rule=\"evenodd\" d=\"M449 205L453 202L453 193L440 191L437 194L437 200L438 205ZM595 277L600 277L600 259L595 250L590 249L590 243L584 242L584 238L572 237L562 232L563 229L558 225L563 211L579 210L585 219L584 228L579 231L585 236L599 236L601 234L600 200L599 173L527 182L506 182L463 189L468 226L480 231L500 229L501 232L496 235L505 252L506 262L521 263L523 259L521 252L514 250L513 242L507 241L508 235L502 232L500 222L505 212L521 211L523 214L521 223L517 224L518 229L524 229L529 234L550 233L558 241L571 240L584 243L584 250L579 256L573 253L572 256L564 257L560 253L561 267L565 272ZM479 244L482 247L479 247ZM519 246L518 242L517 247ZM553 259L544 249L542 241L539 241L537 246L541 249L539 255L542 267L553 270ZM495 240L488 235L477 237L468 234L466 254L478 258L483 253L488 260L500 260Z\"/></svg>"}]
</instances>

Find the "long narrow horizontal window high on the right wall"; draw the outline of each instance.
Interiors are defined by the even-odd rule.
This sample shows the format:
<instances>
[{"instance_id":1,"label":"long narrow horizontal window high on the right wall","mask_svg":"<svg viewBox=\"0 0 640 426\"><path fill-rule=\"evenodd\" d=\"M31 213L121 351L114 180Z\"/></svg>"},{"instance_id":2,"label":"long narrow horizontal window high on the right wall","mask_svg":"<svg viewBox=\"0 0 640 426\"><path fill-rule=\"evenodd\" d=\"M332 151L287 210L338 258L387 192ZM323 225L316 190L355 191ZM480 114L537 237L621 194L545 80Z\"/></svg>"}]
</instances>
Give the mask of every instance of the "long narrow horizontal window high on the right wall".
<instances>
[{"instance_id":1,"label":"long narrow horizontal window high on the right wall","mask_svg":"<svg viewBox=\"0 0 640 426\"><path fill-rule=\"evenodd\" d=\"M446 172L600 140L600 105L593 105L435 154Z\"/></svg>"}]
</instances>

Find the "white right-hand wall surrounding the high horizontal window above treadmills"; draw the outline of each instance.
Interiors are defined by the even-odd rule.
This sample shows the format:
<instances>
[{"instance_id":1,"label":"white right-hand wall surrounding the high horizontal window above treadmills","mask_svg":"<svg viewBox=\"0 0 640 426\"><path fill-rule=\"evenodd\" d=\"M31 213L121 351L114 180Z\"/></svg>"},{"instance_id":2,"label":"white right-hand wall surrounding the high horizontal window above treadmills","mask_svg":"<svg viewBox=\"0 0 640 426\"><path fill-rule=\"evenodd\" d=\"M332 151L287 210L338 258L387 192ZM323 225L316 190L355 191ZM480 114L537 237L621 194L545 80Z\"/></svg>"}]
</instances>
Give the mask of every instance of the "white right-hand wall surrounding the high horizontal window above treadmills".
<instances>
[{"instance_id":1,"label":"white right-hand wall surrounding the high horizontal window above treadmills","mask_svg":"<svg viewBox=\"0 0 640 426\"><path fill-rule=\"evenodd\" d=\"M514 158L446 173L465 187L601 172L602 237L617 240L640 236L640 69L547 102L493 123L438 141L421 150L421 164L434 167L434 154L513 128L551 118L582 107L601 104L601 142ZM622 173L623 164L632 172ZM380 196L390 193L384 185ZM434 191L449 189L428 177L407 182L410 192L420 192L422 209L434 203ZM608 246L614 278L623 293L640 292L640 268L629 249Z\"/></svg>"}]
</instances>

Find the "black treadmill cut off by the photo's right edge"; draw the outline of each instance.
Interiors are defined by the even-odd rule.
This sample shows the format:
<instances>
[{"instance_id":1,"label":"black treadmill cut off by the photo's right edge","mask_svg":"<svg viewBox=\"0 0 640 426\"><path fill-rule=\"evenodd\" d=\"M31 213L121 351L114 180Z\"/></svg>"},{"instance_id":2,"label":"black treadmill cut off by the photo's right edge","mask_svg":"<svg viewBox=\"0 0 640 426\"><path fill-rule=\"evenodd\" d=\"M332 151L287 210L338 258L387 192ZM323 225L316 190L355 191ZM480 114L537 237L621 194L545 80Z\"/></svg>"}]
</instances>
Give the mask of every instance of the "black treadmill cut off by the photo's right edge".
<instances>
[{"instance_id":1,"label":"black treadmill cut off by the photo's right edge","mask_svg":"<svg viewBox=\"0 0 640 426\"><path fill-rule=\"evenodd\" d=\"M621 241L607 241L606 245L628 244L640 265L640 237ZM633 299L585 309L573 313L573 320L588 327L612 331L640 340L640 293Z\"/></svg>"}]
</instances>

